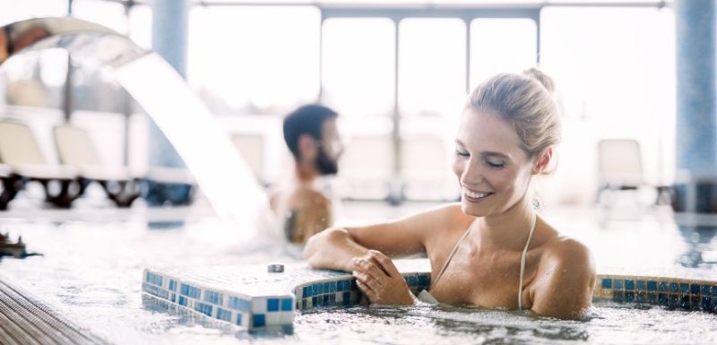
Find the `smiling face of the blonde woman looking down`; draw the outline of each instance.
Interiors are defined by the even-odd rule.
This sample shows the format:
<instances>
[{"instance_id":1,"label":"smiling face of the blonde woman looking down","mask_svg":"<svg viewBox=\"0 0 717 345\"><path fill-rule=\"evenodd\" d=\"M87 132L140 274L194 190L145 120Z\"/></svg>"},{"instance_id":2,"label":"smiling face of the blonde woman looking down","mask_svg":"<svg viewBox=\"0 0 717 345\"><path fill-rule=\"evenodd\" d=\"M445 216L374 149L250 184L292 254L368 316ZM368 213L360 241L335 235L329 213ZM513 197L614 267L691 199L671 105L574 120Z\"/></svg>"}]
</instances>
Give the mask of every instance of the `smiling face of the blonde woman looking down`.
<instances>
[{"instance_id":1,"label":"smiling face of the blonde woman looking down","mask_svg":"<svg viewBox=\"0 0 717 345\"><path fill-rule=\"evenodd\" d=\"M475 217L499 214L523 198L532 160L520 147L514 129L497 116L464 110L454 155L464 213Z\"/></svg>"}]
</instances>

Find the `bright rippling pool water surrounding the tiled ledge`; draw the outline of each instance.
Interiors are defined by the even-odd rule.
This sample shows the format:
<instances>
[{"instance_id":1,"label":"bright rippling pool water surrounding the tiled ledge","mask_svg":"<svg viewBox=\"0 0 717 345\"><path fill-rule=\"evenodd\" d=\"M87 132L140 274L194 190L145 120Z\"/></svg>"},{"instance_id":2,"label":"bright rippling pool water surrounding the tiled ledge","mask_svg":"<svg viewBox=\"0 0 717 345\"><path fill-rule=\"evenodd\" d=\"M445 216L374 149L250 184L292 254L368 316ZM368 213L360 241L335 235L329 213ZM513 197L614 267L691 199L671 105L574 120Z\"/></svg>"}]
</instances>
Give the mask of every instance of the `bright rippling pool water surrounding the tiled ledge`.
<instances>
[{"instance_id":1,"label":"bright rippling pool water surrounding the tiled ledge","mask_svg":"<svg viewBox=\"0 0 717 345\"><path fill-rule=\"evenodd\" d=\"M379 214L370 210L371 206L359 206L349 210L348 215L354 213L358 218L361 214ZM629 263L641 272L714 278L715 264L709 261L709 253L717 248L713 231L679 229L674 221L660 214L611 219L602 224L591 214L560 211L547 217L559 229L574 229L571 235L592 246L599 271L606 265ZM143 268L266 263L277 259L290 263L290 257L262 251L237 253L234 244L242 238L228 239L230 229L211 217L193 219L190 215L186 226L164 229L148 228L147 216L132 211L119 215L115 211L92 211L89 218L72 218L3 218L2 227L10 230L13 237L22 235L30 250L45 255L4 259L0 274L110 343L717 342L714 314L615 302L597 303L593 317L586 322L449 306L320 307L298 314L289 332L247 332L141 293Z\"/></svg>"}]
</instances>

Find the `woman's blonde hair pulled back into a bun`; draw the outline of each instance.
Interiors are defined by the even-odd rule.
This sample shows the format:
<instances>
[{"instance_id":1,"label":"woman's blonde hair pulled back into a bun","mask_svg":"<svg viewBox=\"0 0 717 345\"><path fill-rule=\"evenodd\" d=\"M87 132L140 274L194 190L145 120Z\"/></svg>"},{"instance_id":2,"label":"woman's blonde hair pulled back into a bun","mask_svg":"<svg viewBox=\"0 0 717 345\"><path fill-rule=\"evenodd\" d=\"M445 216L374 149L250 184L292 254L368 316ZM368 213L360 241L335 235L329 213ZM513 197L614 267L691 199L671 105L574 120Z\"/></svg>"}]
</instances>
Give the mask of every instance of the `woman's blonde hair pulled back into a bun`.
<instances>
[{"instance_id":1,"label":"woman's blonde hair pulled back into a bun","mask_svg":"<svg viewBox=\"0 0 717 345\"><path fill-rule=\"evenodd\" d=\"M537 68L499 73L471 92L466 108L491 112L512 125L523 151L533 158L561 139L554 89L553 80Z\"/></svg>"}]
</instances>

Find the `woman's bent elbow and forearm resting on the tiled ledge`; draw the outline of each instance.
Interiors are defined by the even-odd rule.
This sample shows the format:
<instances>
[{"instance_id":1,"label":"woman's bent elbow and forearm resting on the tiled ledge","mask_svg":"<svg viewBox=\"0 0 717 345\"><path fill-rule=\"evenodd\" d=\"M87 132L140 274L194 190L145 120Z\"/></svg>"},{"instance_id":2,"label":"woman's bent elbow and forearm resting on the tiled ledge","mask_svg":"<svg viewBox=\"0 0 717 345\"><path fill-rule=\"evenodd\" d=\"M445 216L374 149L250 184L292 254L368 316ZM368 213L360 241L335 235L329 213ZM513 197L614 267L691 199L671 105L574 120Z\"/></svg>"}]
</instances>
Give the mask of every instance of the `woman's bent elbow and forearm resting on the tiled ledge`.
<instances>
[{"instance_id":1,"label":"woman's bent elbow and forearm resting on the tiled ledge","mask_svg":"<svg viewBox=\"0 0 717 345\"><path fill-rule=\"evenodd\" d=\"M351 272L351 259L366 254L367 250L358 245L346 229L326 229L309 237L304 259L314 268Z\"/></svg>"}]
</instances>

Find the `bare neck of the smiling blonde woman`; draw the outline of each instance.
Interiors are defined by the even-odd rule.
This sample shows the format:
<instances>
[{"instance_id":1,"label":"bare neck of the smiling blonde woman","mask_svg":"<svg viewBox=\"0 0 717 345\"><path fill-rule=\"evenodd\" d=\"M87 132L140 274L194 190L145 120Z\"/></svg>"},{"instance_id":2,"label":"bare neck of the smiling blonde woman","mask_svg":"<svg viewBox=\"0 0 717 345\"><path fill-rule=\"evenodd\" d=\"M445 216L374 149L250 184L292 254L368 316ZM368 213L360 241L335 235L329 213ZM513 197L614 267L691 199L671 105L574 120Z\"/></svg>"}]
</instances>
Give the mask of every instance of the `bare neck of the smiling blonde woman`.
<instances>
[{"instance_id":1,"label":"bare neck of the smiling blonde woman","mask_svg":"<svg viewBox=\"0 0 717 345\"><path fill-rule=\"evenodd\" d=\"M522 250L531 231L535 211L527 194L507 211L476 219L475 240L480 247Z\"/></svg>"}]
</instances>

